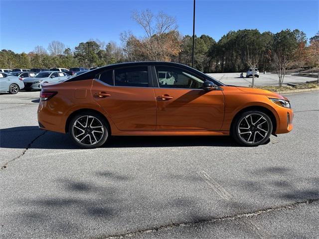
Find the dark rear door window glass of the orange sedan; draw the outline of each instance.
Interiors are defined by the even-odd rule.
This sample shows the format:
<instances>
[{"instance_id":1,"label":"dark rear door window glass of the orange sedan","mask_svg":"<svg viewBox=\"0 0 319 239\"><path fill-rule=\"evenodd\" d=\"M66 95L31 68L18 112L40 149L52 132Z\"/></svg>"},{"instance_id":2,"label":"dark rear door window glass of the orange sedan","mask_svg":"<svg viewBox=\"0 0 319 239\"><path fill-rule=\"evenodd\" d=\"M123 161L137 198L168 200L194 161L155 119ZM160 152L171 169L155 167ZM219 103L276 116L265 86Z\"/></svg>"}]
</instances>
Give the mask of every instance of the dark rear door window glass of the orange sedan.
<instances>
[{"instance_id":1,"label":"dark rear door window glass of the orange sedan","mask_svg":"<svg viewBox=\"0 0 319 239\"><path fill-rule=\"evenodd\" d=\"M147 66L121 68L114 71L115 86L149 87Z\"/></svg>"}]
</instances>

